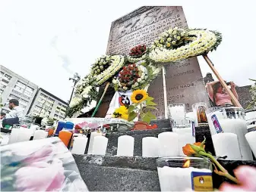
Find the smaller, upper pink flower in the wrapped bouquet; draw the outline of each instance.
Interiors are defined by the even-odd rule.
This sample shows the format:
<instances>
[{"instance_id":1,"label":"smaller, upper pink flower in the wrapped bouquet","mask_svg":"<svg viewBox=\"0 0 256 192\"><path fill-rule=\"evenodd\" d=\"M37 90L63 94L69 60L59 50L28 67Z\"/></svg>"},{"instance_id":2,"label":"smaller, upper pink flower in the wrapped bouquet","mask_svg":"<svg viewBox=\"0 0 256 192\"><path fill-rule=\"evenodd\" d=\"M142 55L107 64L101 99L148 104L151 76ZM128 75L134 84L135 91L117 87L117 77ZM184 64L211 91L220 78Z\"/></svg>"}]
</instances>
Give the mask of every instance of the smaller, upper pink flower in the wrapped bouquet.
<instances>
[{"instance_id":1,"label":"smaller, upper pink flower in the wrapped bouquet","mask_svg":"<svg viewBox=\"0 0 256 192\"><path fill-rule=\"evenodd\" d=\"M30 164L30 163L45 161L51 155L52 155L52 146L46 145L40 148L40 150L37 150L36 152L31 153L30 155L27 155L28 157L24 159L24 163Z\"/></svg>"}]
</instances>

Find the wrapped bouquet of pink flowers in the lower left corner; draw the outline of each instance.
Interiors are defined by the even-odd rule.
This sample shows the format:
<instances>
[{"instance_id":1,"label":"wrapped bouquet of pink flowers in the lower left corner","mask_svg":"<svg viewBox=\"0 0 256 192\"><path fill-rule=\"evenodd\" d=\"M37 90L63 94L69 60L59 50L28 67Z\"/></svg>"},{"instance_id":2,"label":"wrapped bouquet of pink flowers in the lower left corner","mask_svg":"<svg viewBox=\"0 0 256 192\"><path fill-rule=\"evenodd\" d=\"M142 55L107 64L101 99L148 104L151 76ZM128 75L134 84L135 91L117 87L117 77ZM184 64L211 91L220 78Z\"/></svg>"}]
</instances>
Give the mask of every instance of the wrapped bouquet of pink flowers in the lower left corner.
<instances>
[{"instance_id":1,"label":"wrapped bouquet of pink flowers in the lower left corner","mask_svg":"<svg viewBox=\"0 0 256 192\"><path fill-rule=\"evenodd\" d=\"M1 147L2 191L88 191L59 138Z\"/></svg>"}]
</instances>

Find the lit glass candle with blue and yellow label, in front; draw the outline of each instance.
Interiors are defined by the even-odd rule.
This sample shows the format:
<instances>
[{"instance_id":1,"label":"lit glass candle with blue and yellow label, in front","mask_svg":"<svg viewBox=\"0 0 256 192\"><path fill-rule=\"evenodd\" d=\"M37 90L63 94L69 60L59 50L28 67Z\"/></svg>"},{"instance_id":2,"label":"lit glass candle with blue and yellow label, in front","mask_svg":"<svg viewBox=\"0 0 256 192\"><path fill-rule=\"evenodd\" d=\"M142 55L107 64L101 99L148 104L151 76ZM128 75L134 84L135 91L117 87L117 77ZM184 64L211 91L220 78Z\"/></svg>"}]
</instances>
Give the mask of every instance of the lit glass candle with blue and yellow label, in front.
<instances>
[{"instance_id":1,"label":"lit glass candle with blue and yellow label, in front","mask_svg":"<svg viewBox=\"0 0 256 192\"><path fill-rule=\"evenodd\" d=\"M198 157L156 159L161 191L212 191L212 163Z\"/></svg>"}]
</instances>

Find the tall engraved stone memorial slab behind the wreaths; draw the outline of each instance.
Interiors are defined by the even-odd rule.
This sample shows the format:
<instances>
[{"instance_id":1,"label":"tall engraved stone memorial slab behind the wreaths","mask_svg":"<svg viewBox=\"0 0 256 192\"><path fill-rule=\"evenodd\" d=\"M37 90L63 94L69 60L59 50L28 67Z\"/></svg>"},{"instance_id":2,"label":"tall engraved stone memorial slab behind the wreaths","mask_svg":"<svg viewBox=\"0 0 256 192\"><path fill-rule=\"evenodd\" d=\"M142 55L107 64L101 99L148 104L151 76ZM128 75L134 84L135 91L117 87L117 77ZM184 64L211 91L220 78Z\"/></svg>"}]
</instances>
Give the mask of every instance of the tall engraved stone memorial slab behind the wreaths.
<instances>
[{"instance_id":1,"label":"tall engraved stone memorial slab behind the wreaths","mask_svg":"<svg viewBox=\"0 0 256 192\"><path fill-rule=\"evenodd\" d=\"M138 8L112 22L106 54L128 54L131 48L140 44L145 44L148 47L160 33L175 26L188 28L181 6ZM183 103L187 110L191 110L192 104L198 102L209 105L197 57L178 63L169 63L165 67L168 104ZM163 119L165 107L162 75L151 82L148 94L155 98L158 108L155 115L158 119ZM110 98L105 99L105 103L110 103L110 101ZM106 110L106 104L103 105Z\"/></svg>"}]
</instances>

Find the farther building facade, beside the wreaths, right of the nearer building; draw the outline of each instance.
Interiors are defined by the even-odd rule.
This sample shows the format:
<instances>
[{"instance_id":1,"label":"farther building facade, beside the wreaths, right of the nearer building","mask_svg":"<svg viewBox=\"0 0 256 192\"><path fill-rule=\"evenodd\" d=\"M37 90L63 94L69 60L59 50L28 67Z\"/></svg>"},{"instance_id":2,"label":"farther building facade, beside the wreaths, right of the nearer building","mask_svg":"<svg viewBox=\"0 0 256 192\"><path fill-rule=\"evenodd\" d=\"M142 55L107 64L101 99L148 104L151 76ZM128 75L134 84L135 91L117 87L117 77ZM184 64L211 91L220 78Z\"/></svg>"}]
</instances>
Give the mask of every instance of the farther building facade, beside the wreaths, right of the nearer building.
<instances>
[{"instance_id":1,"label":"farther building facade, beside the wreaths, right of the nearer building","mask_svg":"<svg viewBox=\"0 0 256 192\"><path fill-rule=\"evenodd\" d=\"M43 88L39 88L28 113L32 116L48 116L54 119L65 119L67 107L67 102L62 101Z\"/></svg>"}]
</instances>

